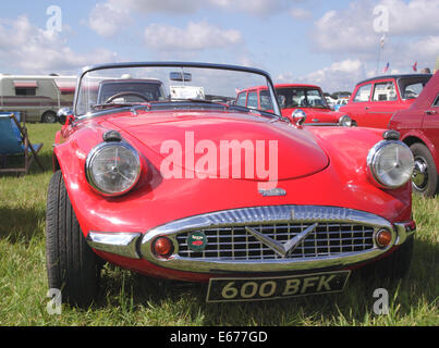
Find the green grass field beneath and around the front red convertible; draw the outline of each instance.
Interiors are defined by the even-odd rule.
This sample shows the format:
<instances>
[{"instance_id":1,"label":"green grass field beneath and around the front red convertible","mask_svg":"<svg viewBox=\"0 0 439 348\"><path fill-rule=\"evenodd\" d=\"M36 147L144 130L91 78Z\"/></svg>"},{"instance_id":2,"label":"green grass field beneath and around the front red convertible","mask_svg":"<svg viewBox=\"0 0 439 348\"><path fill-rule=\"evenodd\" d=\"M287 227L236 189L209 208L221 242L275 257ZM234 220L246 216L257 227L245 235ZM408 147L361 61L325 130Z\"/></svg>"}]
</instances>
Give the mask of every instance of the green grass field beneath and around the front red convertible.
<instances>
[{"instance_id":1,"label":"green grass field beneath and around the front red convertible","mask_svg":"<svg viewBox=\"0 0 439 348\"><path fill-rule=\"evenodd\" d=\"M98 303L49 314L45 211L56 125L29 124L41 160L27 176L0 175L0 325L439 325L439 198L414 198L415 250L407 276L365 282L352 275L341 294L253 303L206 304L206 288L150 279L106 265ZM374 313L376 288L390 312Z\"/></svg>"}]
</instances>

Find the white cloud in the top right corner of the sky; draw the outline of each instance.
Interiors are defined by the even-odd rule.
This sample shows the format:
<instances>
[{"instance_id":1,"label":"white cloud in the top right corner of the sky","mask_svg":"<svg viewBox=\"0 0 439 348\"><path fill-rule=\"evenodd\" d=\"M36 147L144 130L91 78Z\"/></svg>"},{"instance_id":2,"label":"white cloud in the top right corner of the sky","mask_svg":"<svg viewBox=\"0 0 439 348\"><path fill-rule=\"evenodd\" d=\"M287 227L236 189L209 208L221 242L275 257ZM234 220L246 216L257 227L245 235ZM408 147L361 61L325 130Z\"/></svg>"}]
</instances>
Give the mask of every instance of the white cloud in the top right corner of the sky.
<instances>
[{"instance_id":1,"label":"white cloud in the top right corner of the sky","mask_svg":"<svg viewBox=\"0 0 439 348\"><path fill-rule=\"evenodd\" d=\"M328 11L315 22L313 40L320 51L331 53L350 52L376 54L382 33L374 29L374 22L381 13L374 14L376 7L382 7L389 14L389 39L412 39L425 35L439 35L439 1L381 0L353 1L344 10Z\"/></svg>"}]
</instances>

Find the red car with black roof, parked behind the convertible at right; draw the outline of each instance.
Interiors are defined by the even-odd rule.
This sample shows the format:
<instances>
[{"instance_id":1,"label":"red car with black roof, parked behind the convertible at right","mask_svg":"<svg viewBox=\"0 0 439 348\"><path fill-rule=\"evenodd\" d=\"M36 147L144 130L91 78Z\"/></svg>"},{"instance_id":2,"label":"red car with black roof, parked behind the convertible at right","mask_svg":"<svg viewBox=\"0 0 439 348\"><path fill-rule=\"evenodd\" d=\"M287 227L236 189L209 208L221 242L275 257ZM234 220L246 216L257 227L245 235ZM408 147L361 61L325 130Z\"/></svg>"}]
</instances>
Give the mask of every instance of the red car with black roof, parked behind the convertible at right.
<instances>
[{"instance_id":1,"label":"red car with black roof, parked behind the convertible at right","mask_svg":"<svg viewBox=\"0 0 439 348\"><path fill-rule=\"evenodd\" d=\"M340 111L359 127L388 128L395 111L410 108L431 74L388 75L358 83Z\"/></svg>"}]
</instances>

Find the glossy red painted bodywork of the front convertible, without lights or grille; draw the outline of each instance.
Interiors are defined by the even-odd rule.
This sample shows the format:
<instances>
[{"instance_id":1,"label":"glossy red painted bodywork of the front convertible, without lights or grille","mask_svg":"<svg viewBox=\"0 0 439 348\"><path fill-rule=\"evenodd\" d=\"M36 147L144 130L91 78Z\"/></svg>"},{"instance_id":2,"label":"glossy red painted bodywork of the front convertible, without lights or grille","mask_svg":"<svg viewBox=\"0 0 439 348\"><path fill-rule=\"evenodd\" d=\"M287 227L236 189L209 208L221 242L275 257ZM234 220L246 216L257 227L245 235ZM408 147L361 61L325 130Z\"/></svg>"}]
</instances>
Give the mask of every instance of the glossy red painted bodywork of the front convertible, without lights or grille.
<instances>
[{"instance_id":1,"label":"glossy red painted bodywork of the front convertible, without lights or grille","mask_svg":"<svg viewBox=\"0 0 439 348\"><path fill-rule=\"evenodd\" d=\"M139 182L133 191L117 198L97 194L85 178L87 154L102 141L102 134L108 129L119 130L142 153ZM160 175L163 157L159 150L163 134L169 139L184 142L182 135L190 130L199 136L197 140L278 137L282 142L278 187L286 195L263 197L254 179L199 178L196 175L163 178ZM355 146L352 146L353 139ZM350 208L380 215L391 223L411 221L410 184L395 190L381 189L367 175L367 153L380 140L382 132L376 129L302 128L281 121L272 122L269 117L231 112L161 111L150 114L139 111L137 115L120 112L65 125L57 135L53 152L84 236L92 231L147 234L156 226L186 216L291 203ZM96 252L112 263L150 276L203 282L214 276L163 269L145 259Z\"/></svg>"}]
</instances>

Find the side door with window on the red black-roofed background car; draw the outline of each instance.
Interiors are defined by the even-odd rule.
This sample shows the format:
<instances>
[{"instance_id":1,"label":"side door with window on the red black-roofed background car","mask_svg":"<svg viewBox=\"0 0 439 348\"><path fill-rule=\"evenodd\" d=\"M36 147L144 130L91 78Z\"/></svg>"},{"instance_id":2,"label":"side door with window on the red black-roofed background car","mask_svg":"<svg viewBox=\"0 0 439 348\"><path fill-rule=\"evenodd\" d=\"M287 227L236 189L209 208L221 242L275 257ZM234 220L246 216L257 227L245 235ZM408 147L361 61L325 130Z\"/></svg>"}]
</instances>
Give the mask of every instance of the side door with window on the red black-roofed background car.
<instances>
[{"instance_id":1,"label":"side door with window on the red black-roofed background car","mask_svg":"<svg viewBox=\"0 0 439 348\"><path fill-rule=\"evenodd\" d=\"M392 114L400 108L401 100L393 79L374 83L370 102L366 107L367 127L387 128Z\"/></svg>"}]
</instances>

